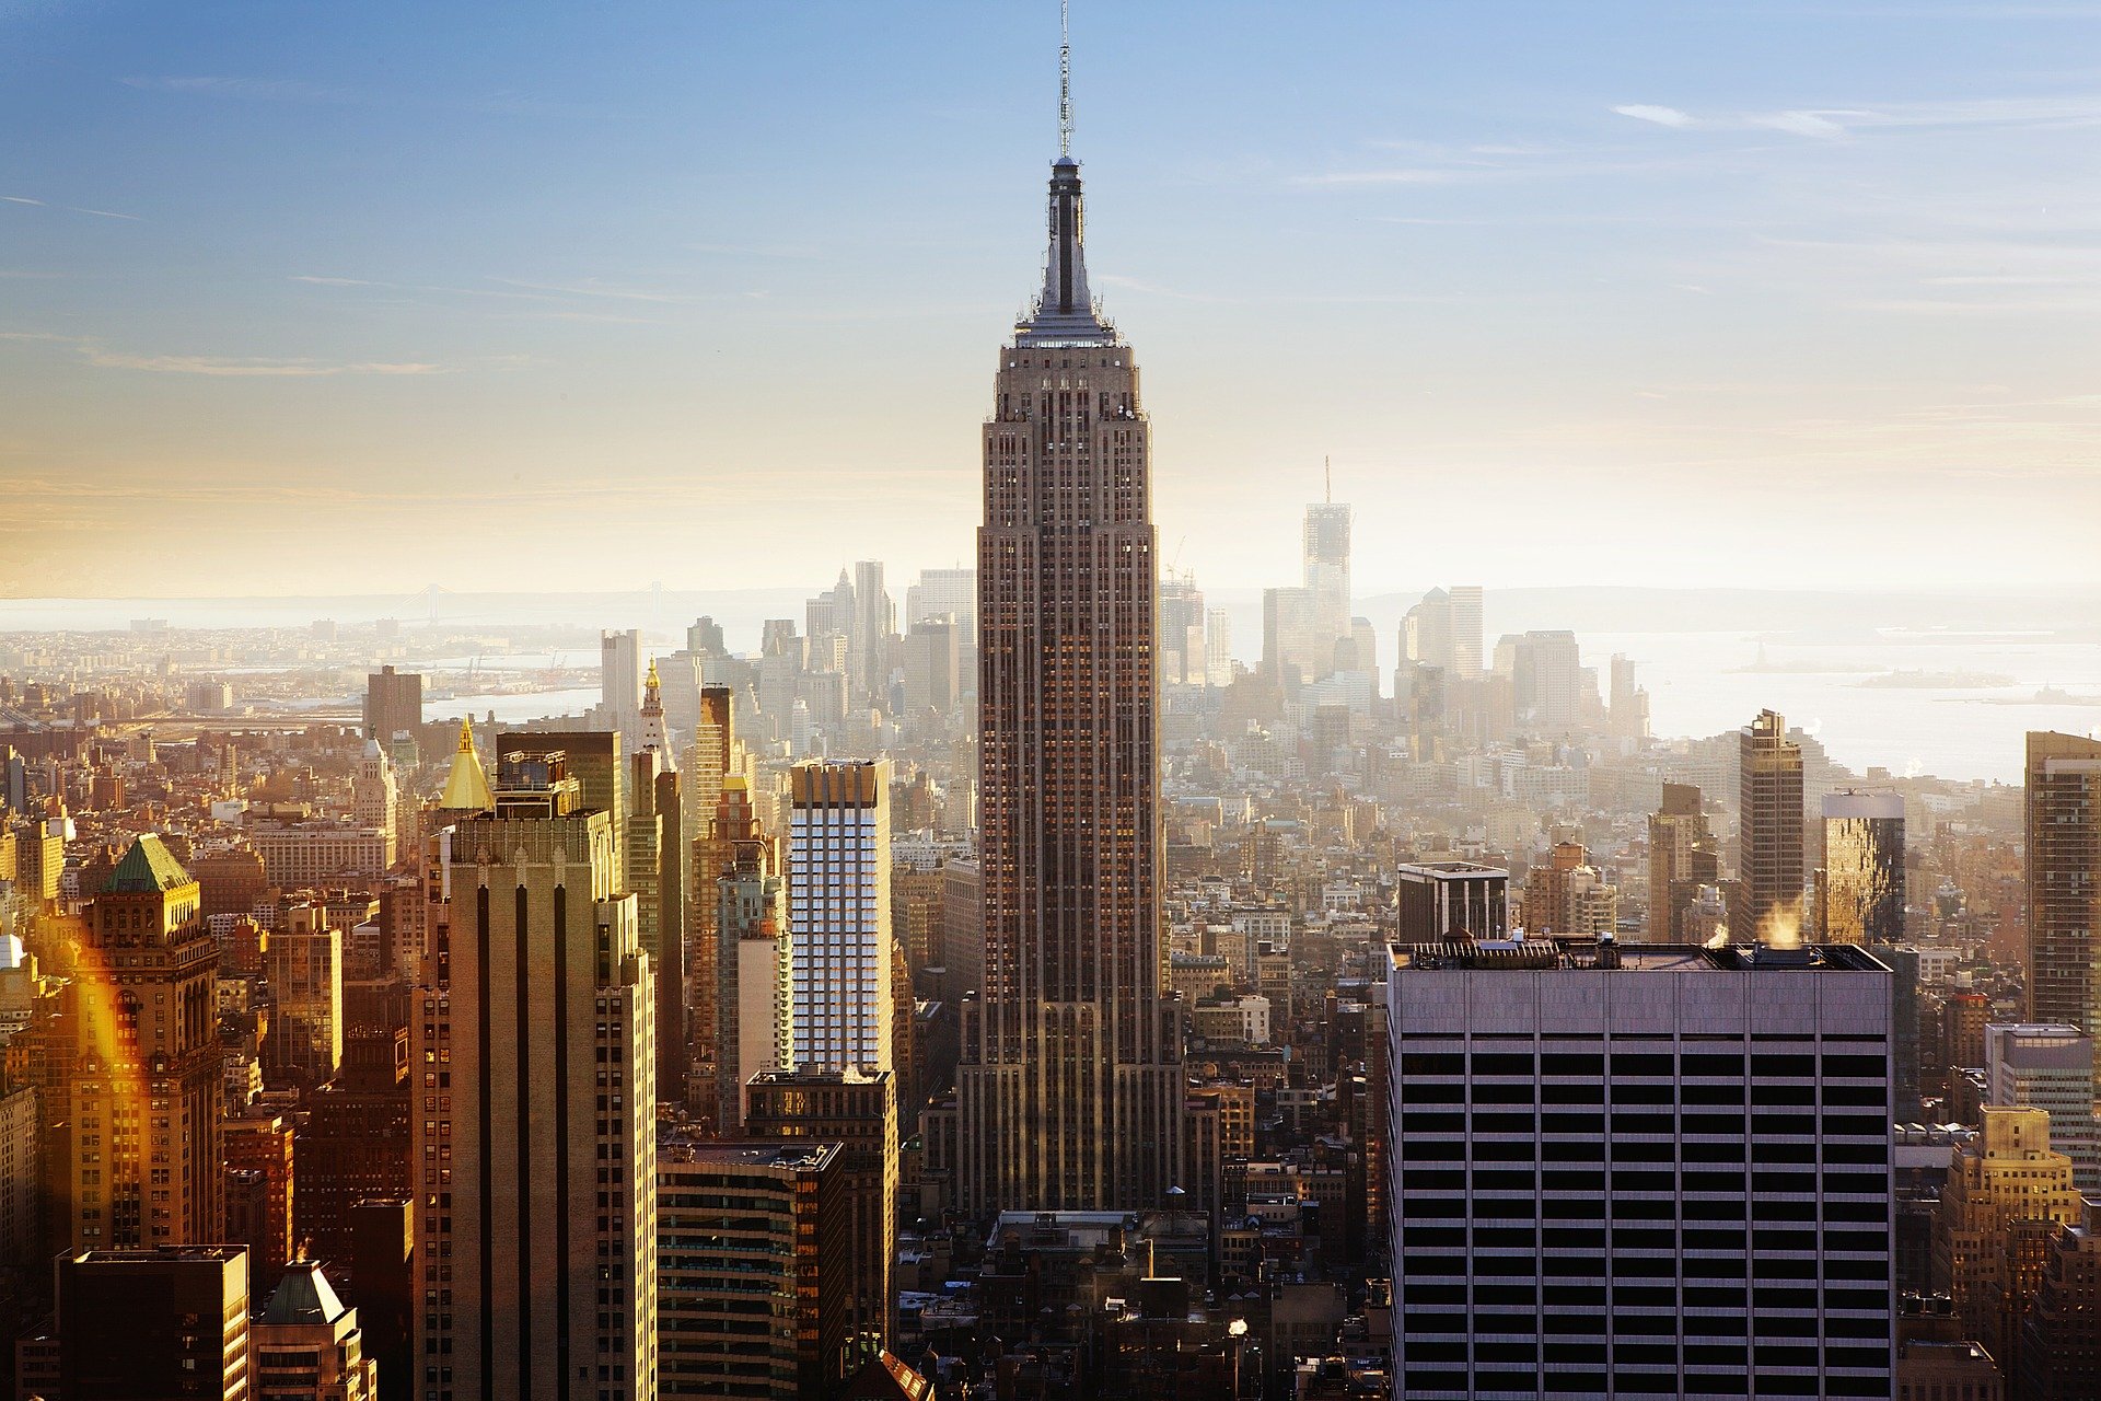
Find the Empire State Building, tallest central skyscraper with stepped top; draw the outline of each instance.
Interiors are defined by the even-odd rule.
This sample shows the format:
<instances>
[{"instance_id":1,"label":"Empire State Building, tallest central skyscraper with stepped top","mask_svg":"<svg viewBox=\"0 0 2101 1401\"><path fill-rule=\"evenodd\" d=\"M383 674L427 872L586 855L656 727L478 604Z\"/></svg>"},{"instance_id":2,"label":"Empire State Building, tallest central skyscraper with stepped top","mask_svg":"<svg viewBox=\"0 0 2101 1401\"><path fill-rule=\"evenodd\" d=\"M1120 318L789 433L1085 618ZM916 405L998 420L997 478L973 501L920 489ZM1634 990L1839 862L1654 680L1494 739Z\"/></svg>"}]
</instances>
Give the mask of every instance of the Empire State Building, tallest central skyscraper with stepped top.
<instances>
[{"instance_id":1,"label":"Empire State Building, tallest central skyscraper with stepped top","mask_svg":"<svg viewBox=\"0 0 2101 1401\"><path fill-rule=\"evenodd\" d=\"M1042 296L1000 351L977 531L985 977L964 1002L969 1212L1166 1206L1181 1008L1160 987L1149 428L1050 166Z\"/></svg>"}]
</instances>

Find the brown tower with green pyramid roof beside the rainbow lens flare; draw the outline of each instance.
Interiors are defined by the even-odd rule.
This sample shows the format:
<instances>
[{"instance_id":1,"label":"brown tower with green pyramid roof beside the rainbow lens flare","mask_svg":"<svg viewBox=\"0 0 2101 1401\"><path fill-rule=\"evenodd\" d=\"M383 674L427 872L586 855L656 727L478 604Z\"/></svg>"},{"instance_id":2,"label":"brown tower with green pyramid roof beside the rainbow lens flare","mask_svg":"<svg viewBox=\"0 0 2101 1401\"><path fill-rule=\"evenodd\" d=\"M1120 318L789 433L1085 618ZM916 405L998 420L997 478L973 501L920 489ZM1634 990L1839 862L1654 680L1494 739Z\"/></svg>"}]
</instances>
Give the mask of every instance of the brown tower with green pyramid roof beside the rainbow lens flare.
<instances>
[{"instance_id":1,"label":"brown tower with green pyramid roof beside the rainbow lens flare","mask_svg":"<svg viewBox=\"0 0 2101 1401\"><path fill-rule=\"evenodd\" d=\"M88 905L65 1073L78 1250L221 1239L219 945L200 905L158 836Z\"/></svg>"}]
</instances>

